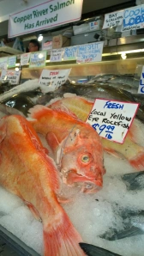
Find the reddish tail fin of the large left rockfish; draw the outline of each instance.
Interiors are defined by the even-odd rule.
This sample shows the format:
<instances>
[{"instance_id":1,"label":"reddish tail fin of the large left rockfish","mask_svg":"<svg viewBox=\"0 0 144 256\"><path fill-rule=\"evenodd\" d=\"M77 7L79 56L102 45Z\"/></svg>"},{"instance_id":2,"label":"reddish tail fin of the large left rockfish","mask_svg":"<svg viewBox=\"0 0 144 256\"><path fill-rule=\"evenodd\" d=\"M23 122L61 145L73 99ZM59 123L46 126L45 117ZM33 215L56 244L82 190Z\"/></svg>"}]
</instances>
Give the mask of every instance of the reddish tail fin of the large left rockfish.
<instances>
[{"instance_id":1,"label":"reddish tail fin of the large left rockfish","mask_svg":"<svg viewBox=\"0 0 144 256\"><path fill-rule=\"evenodd\" d=\"M45 256L86 256L79 246L81 235L64 211L60 221L44 225L43 235Z\"/></svg>"}]
</instances>

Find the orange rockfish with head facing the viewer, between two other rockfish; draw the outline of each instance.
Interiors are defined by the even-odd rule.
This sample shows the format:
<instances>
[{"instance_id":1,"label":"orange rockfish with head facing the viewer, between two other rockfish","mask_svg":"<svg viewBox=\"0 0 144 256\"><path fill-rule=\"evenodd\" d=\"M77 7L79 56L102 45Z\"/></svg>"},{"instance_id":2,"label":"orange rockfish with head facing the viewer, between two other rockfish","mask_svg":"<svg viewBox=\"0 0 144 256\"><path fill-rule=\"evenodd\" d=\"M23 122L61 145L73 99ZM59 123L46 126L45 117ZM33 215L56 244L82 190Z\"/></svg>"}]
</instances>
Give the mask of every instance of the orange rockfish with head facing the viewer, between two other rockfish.
<instances>
[{"instance_id":1,"label":"orange rockfish with head facing the viewer, between two other rockfish","mask_svg":"<svg viewBox=\"0 0 144 256\"><path fill-rule=\"evenodd\" d=\"M37 105L29 113L35 131L46 137L64 183L81 186L82 192L96 192L105 174L98 133L64 111Z\"/></svg>"}]
</instances>

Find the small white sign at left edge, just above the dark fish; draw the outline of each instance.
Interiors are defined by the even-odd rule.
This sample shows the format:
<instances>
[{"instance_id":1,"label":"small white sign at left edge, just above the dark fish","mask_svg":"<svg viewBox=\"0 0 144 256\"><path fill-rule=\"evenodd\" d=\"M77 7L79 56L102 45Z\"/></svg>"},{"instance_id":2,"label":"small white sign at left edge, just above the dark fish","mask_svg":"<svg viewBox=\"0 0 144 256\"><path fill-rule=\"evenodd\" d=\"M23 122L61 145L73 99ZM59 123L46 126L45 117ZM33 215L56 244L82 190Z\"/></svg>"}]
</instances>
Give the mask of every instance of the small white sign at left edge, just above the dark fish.
<instances>
[{"instance_id":1,"label":"small white sign at left edge, just above the dark fish","mask_svg":"<svg viewBox=\"0 0 144 256\"><path fill-rule=\"evenodd\" d=\"M21 70L2 70L1 80L9 81L10 84L18 84L20 81Z\"/></svg>"}]
</instances>

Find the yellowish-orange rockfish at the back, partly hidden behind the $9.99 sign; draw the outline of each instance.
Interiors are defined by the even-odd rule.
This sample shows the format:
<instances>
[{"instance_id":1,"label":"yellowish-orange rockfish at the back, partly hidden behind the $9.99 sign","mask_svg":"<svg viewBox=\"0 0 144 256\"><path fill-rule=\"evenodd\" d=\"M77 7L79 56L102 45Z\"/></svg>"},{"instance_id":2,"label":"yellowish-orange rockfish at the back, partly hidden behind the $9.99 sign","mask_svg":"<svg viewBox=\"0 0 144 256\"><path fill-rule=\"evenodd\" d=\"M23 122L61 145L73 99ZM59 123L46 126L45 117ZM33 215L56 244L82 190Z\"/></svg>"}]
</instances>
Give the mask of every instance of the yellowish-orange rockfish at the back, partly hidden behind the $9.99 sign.
<instances>
[{"instance_id":1,"label":"yellowish-orange rockfish at the back, partly hidden behind the $9.99 sign","mask_svg":"<svg viewBox=\"0 0 144 256\"><path fill-rule=\"evenodd\" d=\"M47 107L59 110L67 109L67 111L74 113L82 121L86 121L93 107L93 101L87 101L87 99L80 96L71 96L48 104ZM135 132L136 130L134 121L123 144L113 143L110 140L104 138L101 138L101 142L105 151L112 155L123 155L123 157L129 161L130 165L138 170L143 170L144 148L135 143Z\"/></svg>"}]
</instances>

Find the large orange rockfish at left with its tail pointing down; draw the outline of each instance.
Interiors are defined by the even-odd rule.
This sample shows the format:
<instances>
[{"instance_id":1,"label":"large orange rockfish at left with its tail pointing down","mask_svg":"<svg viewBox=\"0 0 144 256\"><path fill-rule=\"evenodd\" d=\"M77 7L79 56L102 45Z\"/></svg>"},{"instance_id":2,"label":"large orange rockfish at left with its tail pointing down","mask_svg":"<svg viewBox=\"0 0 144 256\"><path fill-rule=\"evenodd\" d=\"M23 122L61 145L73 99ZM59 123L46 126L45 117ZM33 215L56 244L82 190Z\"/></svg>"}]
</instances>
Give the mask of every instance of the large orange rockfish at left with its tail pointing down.
<instances>
[{"instance_id":1,"label":"large orange rockfish at left with its tail pointing down","mask_svg":"<svg viewBox=\"0 0 144 256\"><path fill-rule=\"evenodd\" d=\"M0 156L0 185L43 222L44 255L84 256L81 235L57 202L57 168L27 119L11 115L0 120Z\"/></svg>"}]
</instances>

